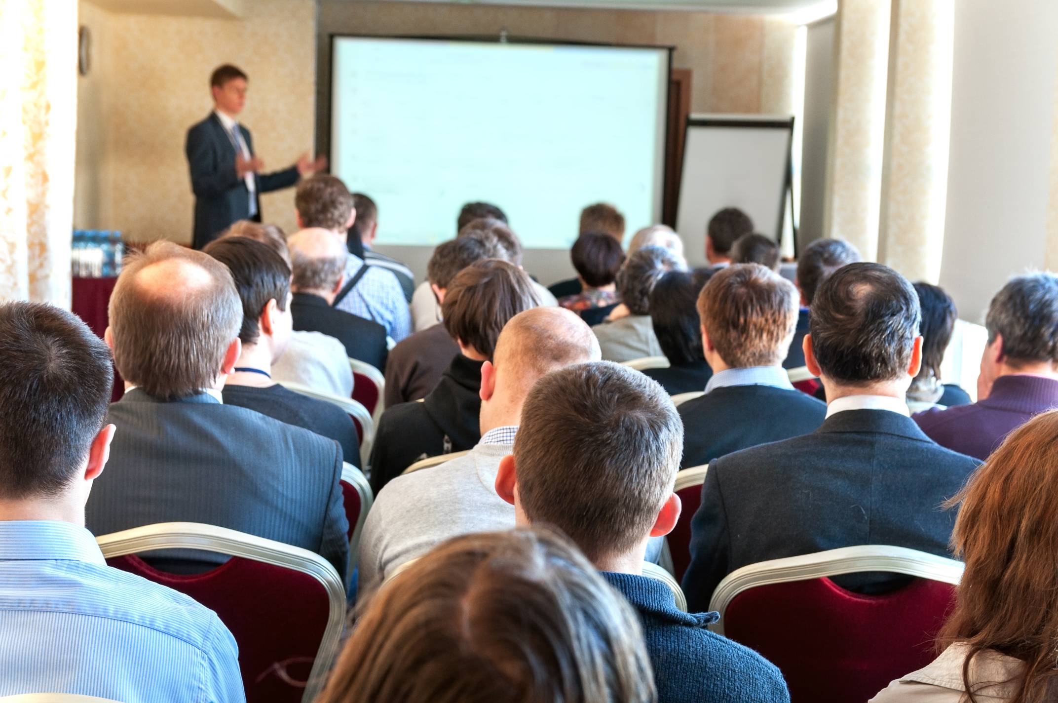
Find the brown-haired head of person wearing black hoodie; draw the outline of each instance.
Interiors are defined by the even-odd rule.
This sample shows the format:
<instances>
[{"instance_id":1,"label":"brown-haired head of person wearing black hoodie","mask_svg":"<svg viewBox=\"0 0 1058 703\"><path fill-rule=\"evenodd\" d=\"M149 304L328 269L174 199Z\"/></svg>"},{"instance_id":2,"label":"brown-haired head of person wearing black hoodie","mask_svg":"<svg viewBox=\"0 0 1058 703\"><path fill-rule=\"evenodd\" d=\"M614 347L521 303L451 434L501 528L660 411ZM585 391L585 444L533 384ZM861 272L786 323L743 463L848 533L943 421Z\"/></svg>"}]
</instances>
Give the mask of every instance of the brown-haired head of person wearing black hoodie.
<instances>
[{"instance_id":1,"label":"brown-haired head of person wearing black hoodie","mask_svg":"<svg viewBox=\"0 0 1058 703\"><path fill-rule=\"evenodd\" d=\"M441 319L452 339L492 359L507 321L537 305L540 300L525 271L508 262L488 258L468 266L452 280L441 305Z\"/></svg>"}]
</instances>

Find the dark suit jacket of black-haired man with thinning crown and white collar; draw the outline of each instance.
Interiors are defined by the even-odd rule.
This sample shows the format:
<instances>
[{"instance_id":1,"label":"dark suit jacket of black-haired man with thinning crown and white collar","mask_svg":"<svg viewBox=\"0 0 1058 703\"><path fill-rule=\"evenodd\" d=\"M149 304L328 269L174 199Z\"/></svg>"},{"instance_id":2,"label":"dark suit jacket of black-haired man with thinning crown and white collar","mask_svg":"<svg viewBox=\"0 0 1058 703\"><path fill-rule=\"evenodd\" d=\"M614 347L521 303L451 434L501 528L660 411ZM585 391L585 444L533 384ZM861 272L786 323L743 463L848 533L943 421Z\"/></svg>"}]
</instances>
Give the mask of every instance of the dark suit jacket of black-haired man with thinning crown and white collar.
<instances>
[{"instance_id":1,"label":"dark suit jacket of black-haired man with thinning crown and white collar","mask_svg":"<svg viewBox=\"0 0 1058 703\"><path fill-rule=\"evenodd\" d=\"M857 544L950 556L954 510L941 507L978 462L936 445L887 410L849 410L813 432L728 454L709 465L691 521L683 592L692 612L747 564ZM863 592L892 575L836 579Z\"/></svg>"}]
</instances>

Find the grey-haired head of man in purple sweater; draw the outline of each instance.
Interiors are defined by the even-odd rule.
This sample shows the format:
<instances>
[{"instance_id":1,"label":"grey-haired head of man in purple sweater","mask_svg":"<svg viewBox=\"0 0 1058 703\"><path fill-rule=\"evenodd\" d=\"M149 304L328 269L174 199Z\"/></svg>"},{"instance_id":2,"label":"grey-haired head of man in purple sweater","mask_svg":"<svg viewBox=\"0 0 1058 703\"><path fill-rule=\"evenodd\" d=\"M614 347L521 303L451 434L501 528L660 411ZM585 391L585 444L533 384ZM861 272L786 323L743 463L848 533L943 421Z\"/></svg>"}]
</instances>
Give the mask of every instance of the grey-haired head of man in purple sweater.
<instances>
[{"instance_id":1,"label":"grey-haired head of man in purple sweater","mask_svg":"<svg viewBox=\"0 0 1058 703\"><path fill-rule=\"evenodd\" d=\"M1011 368L1058 364L1058 276L1029 273L1010 278L989 303L985 327L989 344L1002 335L1004 361Z\"/></svg>"}]
</instances>

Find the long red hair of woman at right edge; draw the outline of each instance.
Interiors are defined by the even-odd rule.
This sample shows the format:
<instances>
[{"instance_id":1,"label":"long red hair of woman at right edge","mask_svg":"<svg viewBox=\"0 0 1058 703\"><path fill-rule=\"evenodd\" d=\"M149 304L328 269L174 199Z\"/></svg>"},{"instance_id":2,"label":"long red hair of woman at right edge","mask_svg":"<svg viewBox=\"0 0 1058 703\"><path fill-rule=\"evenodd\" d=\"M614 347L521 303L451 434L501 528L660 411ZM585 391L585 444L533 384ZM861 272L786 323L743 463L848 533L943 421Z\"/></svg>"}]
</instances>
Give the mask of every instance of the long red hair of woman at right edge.
<instances>
[{"instance_id":1,"label":"long red hair of woman at right edge","mask_svg":"<svg viewBox=\"0 0 1058 703\"><path fill-rule=\"evenodd\" d=\"M1011 432L947 507L956 505L951 543L966 571L937 645L965 643L970 656L982 650L1014 656L1024 669L1011 681L1018 696L1004 700L1053 700L1058 687L1058 411L1041 413Z\"/></svg>"}]
</instances>

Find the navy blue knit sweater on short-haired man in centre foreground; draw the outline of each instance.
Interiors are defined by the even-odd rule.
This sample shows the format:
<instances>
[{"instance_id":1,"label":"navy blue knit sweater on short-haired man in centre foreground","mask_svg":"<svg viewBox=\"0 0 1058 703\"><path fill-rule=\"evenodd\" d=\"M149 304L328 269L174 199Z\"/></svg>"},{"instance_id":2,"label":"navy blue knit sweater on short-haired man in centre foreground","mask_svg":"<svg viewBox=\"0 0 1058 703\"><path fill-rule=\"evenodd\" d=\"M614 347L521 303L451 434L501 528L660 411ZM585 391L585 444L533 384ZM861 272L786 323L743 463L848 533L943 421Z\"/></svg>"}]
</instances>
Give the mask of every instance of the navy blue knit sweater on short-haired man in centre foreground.
<instances>
[{"instance_id":1,"label":"navy blue knit sweater on short-haired man in centre foreground","mask_svg":"<svg viewBox=\"0 0 1058 703\"><path fill-rule=\"evenodd\" d=\"M752 649L706 629L717 613L685 613L645 576L602 572L639 614L658 703L789 703L783 674Z\"/></svg>"}]
</instances>

